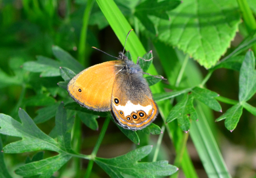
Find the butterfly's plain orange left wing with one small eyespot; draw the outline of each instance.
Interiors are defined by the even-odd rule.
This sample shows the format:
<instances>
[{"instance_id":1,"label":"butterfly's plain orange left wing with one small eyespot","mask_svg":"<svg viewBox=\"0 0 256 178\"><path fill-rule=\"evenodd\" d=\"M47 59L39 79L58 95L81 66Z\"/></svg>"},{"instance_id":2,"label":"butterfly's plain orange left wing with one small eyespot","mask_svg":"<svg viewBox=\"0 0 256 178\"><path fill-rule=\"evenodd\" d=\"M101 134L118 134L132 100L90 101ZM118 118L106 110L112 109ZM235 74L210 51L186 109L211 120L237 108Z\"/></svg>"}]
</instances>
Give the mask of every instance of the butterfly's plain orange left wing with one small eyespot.
<instances>
[{"instance_id":1,"label":"butterfly's plain orange left wing with one small eyespot","mask_svg":"<svg viewBox=\"0 0 256 178\"><path fill-rule=\"evenodd\" d=\"M109 111L113 84L120 65L120 61L108 61L81 71L68 83L69 95L83 107Z\"/></svg>"}]
</instances>

